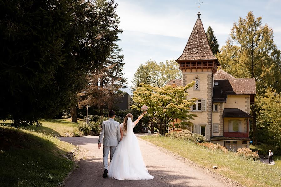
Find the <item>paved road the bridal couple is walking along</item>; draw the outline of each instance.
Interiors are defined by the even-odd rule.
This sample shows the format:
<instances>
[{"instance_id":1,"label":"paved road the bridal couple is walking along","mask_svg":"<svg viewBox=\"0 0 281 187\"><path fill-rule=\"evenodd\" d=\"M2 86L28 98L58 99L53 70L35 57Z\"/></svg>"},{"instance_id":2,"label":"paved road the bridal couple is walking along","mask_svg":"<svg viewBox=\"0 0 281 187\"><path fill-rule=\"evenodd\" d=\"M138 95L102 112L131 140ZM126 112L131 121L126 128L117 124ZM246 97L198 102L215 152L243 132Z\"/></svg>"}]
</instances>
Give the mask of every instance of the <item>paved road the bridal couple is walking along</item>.
<instances>
[{"instance_id":1,"label":"paved road the bridal couple is walking along","mask_svg":"<svg viewBox=\"0 0 281 187\"><path fill-rule=\"evenodd\" d=\"M228 186L215 175L195 169L172 155L166 154L146 141L139 140L144 162L154 180L115 180L103 178L103 149L98 149L98 136L61 137L62 141L86 148L86 155L66 181L66 187L218 187Z\"/></svg>"}]
</instances>

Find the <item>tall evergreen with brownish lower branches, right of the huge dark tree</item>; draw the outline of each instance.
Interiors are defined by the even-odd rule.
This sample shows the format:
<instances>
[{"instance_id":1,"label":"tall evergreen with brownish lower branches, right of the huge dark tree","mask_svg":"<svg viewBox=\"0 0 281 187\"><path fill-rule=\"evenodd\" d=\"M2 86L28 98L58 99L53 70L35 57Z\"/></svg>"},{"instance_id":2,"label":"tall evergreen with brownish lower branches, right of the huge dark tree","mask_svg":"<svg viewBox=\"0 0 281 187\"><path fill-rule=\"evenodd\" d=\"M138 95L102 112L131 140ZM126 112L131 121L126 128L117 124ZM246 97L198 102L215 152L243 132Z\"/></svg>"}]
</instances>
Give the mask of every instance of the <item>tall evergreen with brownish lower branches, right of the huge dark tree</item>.
<instances>
[{"instance_id":1,"label":"tall evergreen with brownish lower branches, right of the huge dark tree","mask_svg":"<svg viewBox=\"0 0 281 187\"><path fill-rule=\"evenodd\" d=\"M98 54L103 55L96 59L99 66L88 74L88 86L78 94L80 108L85 105L97 106L101 115L105 107L112 108L116 98L123 93L120 89L126 88L127 83L127 79L123 77L124 57L117 45L117 41L120 41L118 35L123 32L119 29L117 7L118 4L114 0L95 2L98 13L96 20L99 24L94 46ZM72 110L76 110L76 105L73 105ZM75 118L72 116L72 119Z\"/></svg>"}]
</instances>

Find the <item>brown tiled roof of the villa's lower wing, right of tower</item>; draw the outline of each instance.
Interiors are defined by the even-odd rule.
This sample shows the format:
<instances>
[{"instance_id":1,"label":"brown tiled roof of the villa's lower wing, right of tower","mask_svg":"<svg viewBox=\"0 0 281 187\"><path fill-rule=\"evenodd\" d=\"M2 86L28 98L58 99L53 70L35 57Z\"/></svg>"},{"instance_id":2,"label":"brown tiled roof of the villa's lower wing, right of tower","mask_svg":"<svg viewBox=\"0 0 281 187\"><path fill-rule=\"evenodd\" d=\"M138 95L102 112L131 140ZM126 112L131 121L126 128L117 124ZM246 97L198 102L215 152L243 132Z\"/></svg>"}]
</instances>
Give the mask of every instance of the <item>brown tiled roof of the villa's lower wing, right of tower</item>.
<instances>
[{"instance_id":1,"label":"brown tiled roof of the villa's lower wing, right of tower","mask_svg":"<svg viewBox=\"0 0 281 187\"><path fill-rule=\"evenodd\" d=\"M226 102L227 95L255 95L255 78L215 80L213 102ZM216 85L218 83L218 85Z\"/></svg>"}]
</instances>

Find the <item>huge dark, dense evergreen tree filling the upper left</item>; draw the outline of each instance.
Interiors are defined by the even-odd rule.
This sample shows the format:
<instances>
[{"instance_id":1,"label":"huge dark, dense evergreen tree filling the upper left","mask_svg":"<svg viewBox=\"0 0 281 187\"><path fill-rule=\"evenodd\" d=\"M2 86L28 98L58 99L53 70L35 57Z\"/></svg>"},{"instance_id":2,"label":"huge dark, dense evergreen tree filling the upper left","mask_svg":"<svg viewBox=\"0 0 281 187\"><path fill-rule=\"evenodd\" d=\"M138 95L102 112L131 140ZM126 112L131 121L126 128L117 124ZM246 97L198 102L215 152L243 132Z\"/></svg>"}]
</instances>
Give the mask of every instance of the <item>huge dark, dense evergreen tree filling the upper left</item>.
<instances>
[{"instance_id":1,"label":"huge dark, dense evergreen tree filling the upper left","mask_svg":"<svg viewBox=\"0 0 281 187\"><path fill-rule=\"evenodd\" d=\"M15 127L40 125L69 106L87 84L97 54L96 12L74 0L0 1L0 119ZM86 26L85 26L86 25ZM87 27L88 26L88 27Z\"/></svg>"}]
</instances>

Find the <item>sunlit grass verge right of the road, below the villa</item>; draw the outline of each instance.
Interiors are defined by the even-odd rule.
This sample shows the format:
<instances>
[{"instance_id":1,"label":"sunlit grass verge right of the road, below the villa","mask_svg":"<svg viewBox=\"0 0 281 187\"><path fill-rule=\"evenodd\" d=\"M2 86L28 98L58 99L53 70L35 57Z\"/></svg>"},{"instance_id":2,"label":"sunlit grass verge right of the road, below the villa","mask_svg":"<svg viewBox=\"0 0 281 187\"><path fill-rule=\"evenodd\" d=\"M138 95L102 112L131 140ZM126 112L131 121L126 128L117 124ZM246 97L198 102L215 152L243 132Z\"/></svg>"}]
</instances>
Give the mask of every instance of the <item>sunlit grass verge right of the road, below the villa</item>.
<instances>
[{"instance_id":1,"label":"sunlit grass verge right of the road, below the villa","mask_svg":"<svg viewBox=\"0 0 281 187\"><path fill-rule=\"evenodd\" d=\"M280 157L276 165L270 166L259 161L240 158L231 152L212 151L194 143L169 137L142 136L141 138L206 168L213 169L214 165L218 166L214 172L236 180L245 186L281 186ZM277 157L274 159L276 160Z\"/></svg>"}]
</instances>

